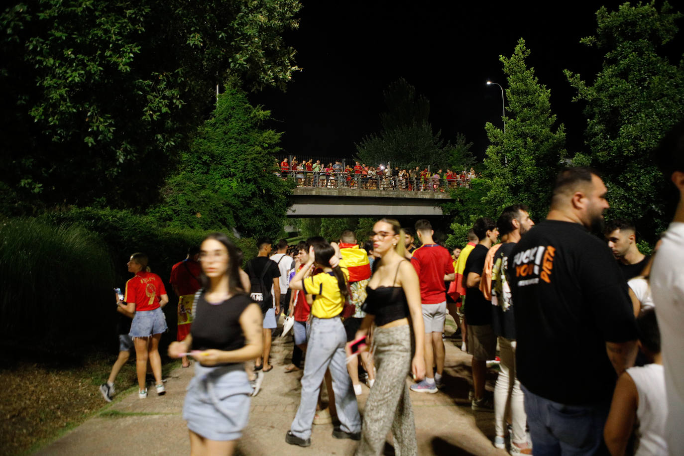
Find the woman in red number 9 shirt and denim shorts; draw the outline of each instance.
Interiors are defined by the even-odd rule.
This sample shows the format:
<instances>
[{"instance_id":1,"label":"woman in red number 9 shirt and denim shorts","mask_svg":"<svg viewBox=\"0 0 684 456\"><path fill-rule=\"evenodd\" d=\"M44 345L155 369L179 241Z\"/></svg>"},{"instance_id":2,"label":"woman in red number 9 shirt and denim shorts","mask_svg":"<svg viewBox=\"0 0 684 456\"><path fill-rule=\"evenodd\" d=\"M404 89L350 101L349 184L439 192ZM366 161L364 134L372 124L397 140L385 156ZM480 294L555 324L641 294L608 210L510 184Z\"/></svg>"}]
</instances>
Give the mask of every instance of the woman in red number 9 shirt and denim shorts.
<instances>
[{"instance_id":1,"label":"woman in red number 9 shirt and denim shorts","mask_svg":"<svg viewBox=\"0 0 684 456\"><path fill-rule=\"evenodd\" d=\"M126 282L124 301L127 312L134 313L129 336L135 347L135 371L137 373L138 397L146 399L147 387L145 374L147 362L152 366L155 375L157 394L166 393L161 380L161 356L159 356L159 340L161 333L168 329L166 317L161 311L169 301L161 278L150 272L146 254L135 253L128 262L129 272L135 276ZM123 305L122 305L123 306Z\"/></svg>"}]
</instances>

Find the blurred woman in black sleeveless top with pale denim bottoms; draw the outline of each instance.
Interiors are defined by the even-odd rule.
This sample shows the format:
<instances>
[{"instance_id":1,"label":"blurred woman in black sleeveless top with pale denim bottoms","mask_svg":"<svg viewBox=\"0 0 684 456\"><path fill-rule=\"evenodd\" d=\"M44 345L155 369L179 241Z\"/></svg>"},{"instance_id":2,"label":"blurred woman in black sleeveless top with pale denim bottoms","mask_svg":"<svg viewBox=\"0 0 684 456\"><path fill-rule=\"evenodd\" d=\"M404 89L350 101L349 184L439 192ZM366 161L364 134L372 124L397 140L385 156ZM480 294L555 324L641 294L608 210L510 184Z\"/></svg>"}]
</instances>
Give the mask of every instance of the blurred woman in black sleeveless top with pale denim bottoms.
<instances>
[{"instance_id":1,"label":"blurred woman in black sleeveless top with pale denim bottoms","mask_svg":"<svg viewBox=\"0 0 684 456\"><path fill-rule=\"evenodd\" d=\"M247 425L252 386L244 362L261 353L261 308L241 288L235 245L222 233L200 246L202 286L190 334L169 345L172 358L192 348L197 361L183 418L193 455L231 455Z\"/></svg>"}]
</instances>

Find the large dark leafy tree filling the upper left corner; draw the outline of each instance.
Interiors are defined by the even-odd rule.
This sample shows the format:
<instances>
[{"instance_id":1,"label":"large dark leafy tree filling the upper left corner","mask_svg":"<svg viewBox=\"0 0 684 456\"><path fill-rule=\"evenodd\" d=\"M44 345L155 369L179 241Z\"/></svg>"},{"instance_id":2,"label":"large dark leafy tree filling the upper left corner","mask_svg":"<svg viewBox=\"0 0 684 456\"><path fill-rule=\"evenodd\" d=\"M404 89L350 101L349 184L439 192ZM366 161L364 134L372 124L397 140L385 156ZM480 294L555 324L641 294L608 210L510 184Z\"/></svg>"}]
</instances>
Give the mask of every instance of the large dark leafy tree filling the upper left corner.
<instances>
[{"instance_id":1,"label":"large dark leafy tree filling the upper left corner","mask_svg":"<svg viewBox=\"0 0 684 456\"><path fill-rule=\"evenodd\" d=\"M297 0L27 0L0 16L0 180L18 200L145 207L240 79L280 88ZM6 119L6 120L5 120Z\"/></svg>"}]
</instances>

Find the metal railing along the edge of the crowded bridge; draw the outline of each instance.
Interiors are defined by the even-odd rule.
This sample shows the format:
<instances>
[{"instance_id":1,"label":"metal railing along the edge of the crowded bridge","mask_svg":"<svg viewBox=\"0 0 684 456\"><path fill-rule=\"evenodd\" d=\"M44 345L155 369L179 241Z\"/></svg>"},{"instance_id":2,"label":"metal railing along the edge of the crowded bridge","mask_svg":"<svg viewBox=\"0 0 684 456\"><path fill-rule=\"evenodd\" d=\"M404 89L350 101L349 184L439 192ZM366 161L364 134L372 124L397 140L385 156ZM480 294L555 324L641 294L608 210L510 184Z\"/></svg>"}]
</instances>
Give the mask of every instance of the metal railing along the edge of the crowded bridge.
<instances>
[{"instance_id":1,"label":"metal railing along the edge of the crowded bridge","mask_svg":"<svg viewBox=\"0 0 684 456\"><path fill-rule=\"evenodd\" d=\"M468 178L436 178L434 176L402 177L343 172L283 171L276 173L283 179L293 180L297 187L346 188L363 190L447 191L457 187L470 187Z\"/></svg>"}]
</instances>

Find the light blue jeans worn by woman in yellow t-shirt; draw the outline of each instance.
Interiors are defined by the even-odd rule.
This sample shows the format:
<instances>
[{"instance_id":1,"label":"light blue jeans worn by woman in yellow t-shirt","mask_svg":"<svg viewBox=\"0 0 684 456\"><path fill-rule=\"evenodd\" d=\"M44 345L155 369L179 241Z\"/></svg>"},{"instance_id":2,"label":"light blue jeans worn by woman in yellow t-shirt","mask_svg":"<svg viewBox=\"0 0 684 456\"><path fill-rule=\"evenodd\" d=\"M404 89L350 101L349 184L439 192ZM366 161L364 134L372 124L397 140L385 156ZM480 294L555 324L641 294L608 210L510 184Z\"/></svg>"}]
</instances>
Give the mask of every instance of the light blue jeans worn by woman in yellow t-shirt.
<instances>
[{"instance_id":1,"label":"light blue jeans worn by woman in yellow t-shirt","mask_svg":"<svg viewBox=\"0 0 684 456\"><path fill-rule=\"evenodd\" d=\"M347 334L339 317L311 321L311 336L306 346L304 376L302 377L302 399L292 421L290 431L299 438L311 438L311 426L316 414L316 403L321 381L330 368L332 390L335 394L337 418L342 431L361 431L361 417L358 414L356 395L352 380L347 373L347 355L344 351Z\"/></svg>"}]
</instances>

